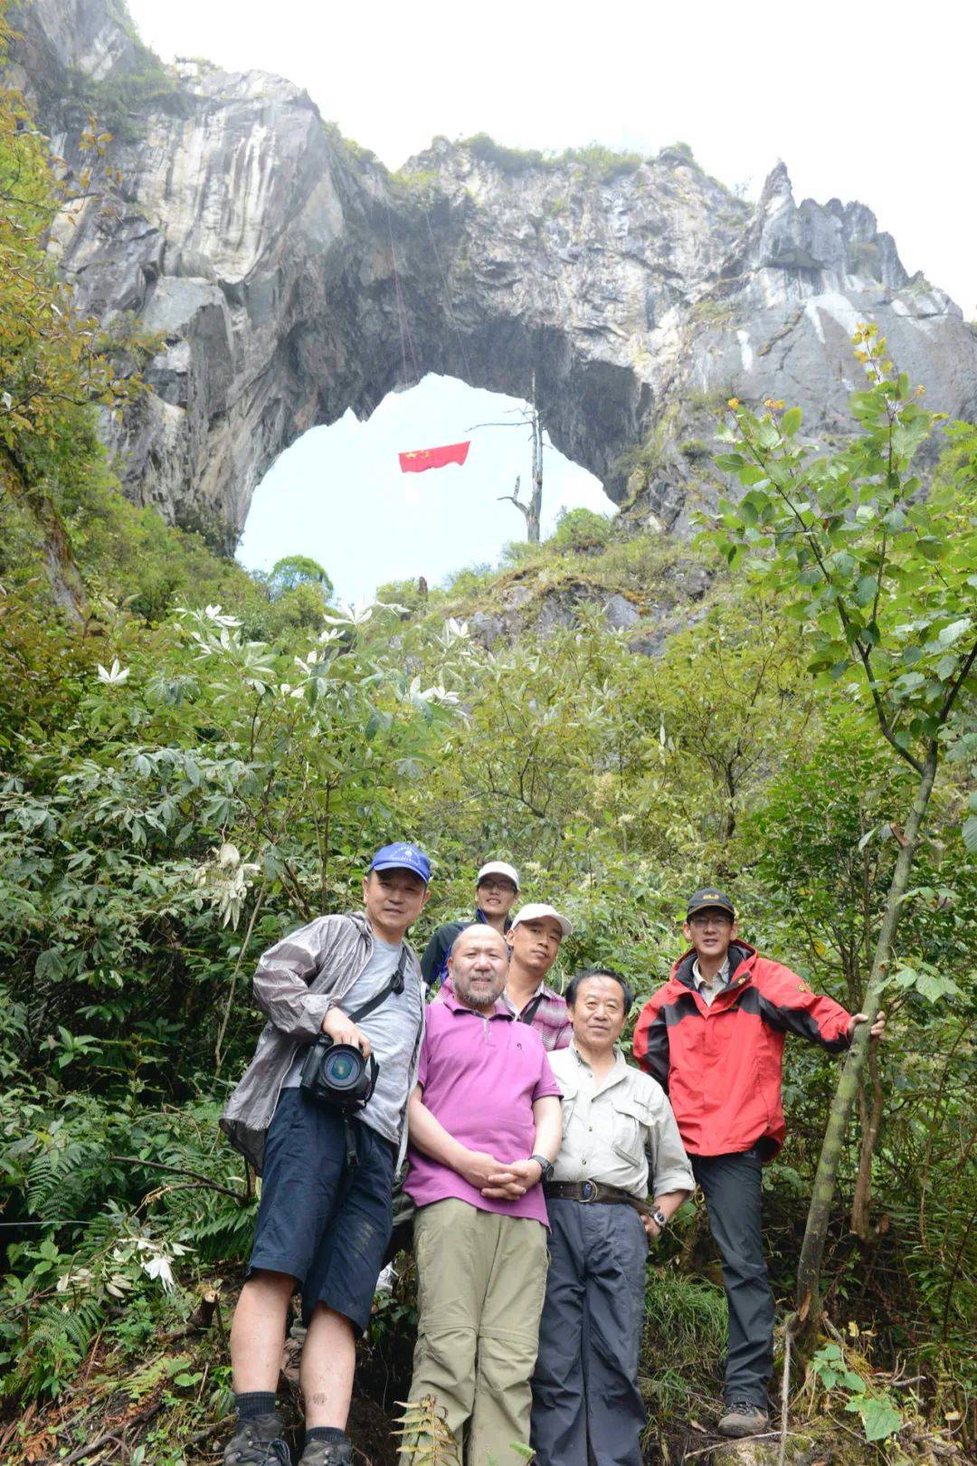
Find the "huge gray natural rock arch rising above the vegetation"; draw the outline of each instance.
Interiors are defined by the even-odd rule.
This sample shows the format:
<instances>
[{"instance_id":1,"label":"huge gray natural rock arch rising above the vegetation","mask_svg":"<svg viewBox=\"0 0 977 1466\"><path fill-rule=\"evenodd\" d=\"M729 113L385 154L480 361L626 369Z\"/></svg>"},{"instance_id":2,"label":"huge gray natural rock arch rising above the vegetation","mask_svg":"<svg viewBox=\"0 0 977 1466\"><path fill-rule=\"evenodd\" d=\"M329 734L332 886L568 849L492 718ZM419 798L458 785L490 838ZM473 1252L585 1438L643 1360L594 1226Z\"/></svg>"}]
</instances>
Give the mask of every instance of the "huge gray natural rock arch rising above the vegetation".
<instances>
[{"instance_id":1,"label":"huge gray natural rock arch rising above the vegetation","mask_svg":"<svg viewBox=\"0 0 977 1466\"><path fill-rule=\"evenodd\" d=\"M151 393L105 431L167 517L233 539L300 432L429 371L517 396L535 372L552 441L680 531L715 494L725 397L842 428L861 320L930 405L977 410L959 309L907 279L867 208L797 204L782 166L756 208L680 148L636 166L438 139L390 174L278 78L183 63L160 85L119 0L35 0L18 23L15 79L75 173L110 98L122 195L51 249L82 305L160 333Z\"/></svg>"}]
</instances>

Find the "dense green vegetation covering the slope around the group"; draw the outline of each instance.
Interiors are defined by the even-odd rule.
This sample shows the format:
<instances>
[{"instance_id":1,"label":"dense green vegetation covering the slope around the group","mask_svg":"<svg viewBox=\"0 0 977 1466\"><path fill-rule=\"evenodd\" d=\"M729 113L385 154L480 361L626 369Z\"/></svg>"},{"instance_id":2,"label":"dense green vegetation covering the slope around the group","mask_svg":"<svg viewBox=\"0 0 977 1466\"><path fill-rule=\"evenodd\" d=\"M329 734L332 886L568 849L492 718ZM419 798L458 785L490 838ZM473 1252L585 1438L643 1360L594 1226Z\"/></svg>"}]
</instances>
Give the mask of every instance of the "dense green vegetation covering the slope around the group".
<instances>
[{"instance_id":1,"label":"dense green vegetation covering the slope around the group","mask_svg":"<svg viewBox=\"0 0 977 1466\"><path fill-rule=\"evenodd\" d=\"M132 1460L176 1466L209 1450L227 1406L223 1327L255 1187L215 1120L256 1036L249 978L264 946L356 902L368 852L403 836L435 859L420 941L469 906L485 855L511 858L526 896L574 916L561 972L609 960L644 994L680 951L684 893L721 880L750 940L854 1009L915 773L848 652L825 642L839 598L873 601L869 572L854 575L861 551L832 547L852 566L839 559L801 613L811 601L768 542L763 475L721 526L744 550L731 569L715 550L577 515L502 570L426 597L385 588L385 604L356 611L324 604L313 563L262 583L133 509L94 413L139 390L136 347L72 314L38 245L60 199L25 113L3 106L0 1456L57 1459L100 1434L111 1454L129 1428L144 1438ZM776 405L734 428L740 443L765 434L769 459L797 432ZM857 431L873 431L864 412ZM951 674L940 664L965 636L945 633L965 616L933 607L973 544L976 469L977 434L962 428L917 535L932 573L899 591L918 603L902 639L921 649L886 686L913 737L927 736L927 677ZM696 557L709 588L693 604ZM573 588L574 625L488 652L466 617L516 579L539 604ZM800 583L814 595L803 570ZM611 592L686 625L661 655L636 655L602 616ZM831 1435L836 1459L935 1459L977 1438L973 712L964 689L940 732L885 990L892 1039L860 1079L841 1157L826 1334L794 1378L794 1428ZM835 1080L833 1060L790 1048L791 1133L766 1177L784 1311ZM187 1321L209 1289L224 1303L198 1331ZM391 1409L410 1325L406 1268L363 1347L362 1381ZM707 1441L699 1422L724 1346L696 1205L649 1270L647 1328L652 1438L671 1440L675 1460Z\"/></svg>"}]
</instances>

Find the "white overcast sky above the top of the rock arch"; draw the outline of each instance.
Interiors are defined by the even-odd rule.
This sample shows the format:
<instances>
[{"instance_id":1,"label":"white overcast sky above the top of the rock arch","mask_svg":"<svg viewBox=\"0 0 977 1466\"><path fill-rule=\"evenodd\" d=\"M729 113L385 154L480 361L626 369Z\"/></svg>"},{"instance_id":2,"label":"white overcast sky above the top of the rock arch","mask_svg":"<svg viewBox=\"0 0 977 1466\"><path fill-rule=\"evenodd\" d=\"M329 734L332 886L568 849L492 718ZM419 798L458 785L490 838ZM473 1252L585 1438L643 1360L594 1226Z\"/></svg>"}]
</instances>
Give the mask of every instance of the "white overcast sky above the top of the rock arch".
<instances>
[{"instance_id":1,"label":"white overcast sky above the top of the rock arch","mask_svg":"<svg viewBox=\"0 0 977 1466\"><path fill-rule=\"evenodd\" d=\"M488 132L523 148L599 141L646 154L683 141L707 172L756 196L784 158L798 199L867 204L895 236L907 270L923 270L968 318L977 315L973 7L948 0L746 9L712 0L129 4L164 59L207 56L287 76L390 167L437 133ZM473 409L476 421L480 408ZM338 434L340 425L328 431ZM499 509L517 519L510 506ZM489 547L482 559L491 559Z\"/></svg>"}]
</instances>

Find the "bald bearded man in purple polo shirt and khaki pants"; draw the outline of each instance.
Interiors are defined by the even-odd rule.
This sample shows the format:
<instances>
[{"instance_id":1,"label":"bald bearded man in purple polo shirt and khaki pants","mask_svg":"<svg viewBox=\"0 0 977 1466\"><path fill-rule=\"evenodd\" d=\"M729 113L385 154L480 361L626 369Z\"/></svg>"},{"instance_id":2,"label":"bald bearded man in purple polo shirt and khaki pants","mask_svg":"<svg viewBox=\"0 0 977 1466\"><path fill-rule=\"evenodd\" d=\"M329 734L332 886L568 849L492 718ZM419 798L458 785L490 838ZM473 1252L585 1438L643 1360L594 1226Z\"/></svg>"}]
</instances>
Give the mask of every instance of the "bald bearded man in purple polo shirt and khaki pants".
<instances>
[{"instance_id":1,"label":"bald bearded man in purple polo shirt and khaki pants","mask_svg":"<svg viewBox=\"0 0 977 1466\"><path fill-rule=\"evenodd\" d=\"M419 1302L410 1399L434 1396L460 1448L470 1421L469 1466L524 1462L514 1447L529 1445L546 1290L539 1183L561 1139L542 1039L499 1001L507 970L492 927L456 938L451 992L428 1009L407 1111Z\"/></svg>"}]
</instances>

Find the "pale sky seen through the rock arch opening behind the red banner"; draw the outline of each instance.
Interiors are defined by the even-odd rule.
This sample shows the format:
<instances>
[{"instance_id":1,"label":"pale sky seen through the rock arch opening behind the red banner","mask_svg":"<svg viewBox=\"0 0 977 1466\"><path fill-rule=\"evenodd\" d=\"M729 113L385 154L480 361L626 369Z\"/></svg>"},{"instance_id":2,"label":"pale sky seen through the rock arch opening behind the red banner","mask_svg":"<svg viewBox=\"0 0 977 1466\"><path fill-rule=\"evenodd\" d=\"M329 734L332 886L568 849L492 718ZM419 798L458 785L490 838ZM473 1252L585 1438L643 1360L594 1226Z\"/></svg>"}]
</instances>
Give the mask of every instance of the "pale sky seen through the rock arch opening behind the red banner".
<instances>
[{"instance_id":1,"label":"pale sky seen through the rock arch opening behind the red banner","mask_svg":"<svg viewBox=\"0 0 977 1466\"><path fill-rule=\"evenodd\" d=\"M508 539L524 539L514 504L499 503L521 478L529 490L530 440L514 397L482 391L453 377L425 377L390 393L368 422L352 412L312 428L265 474L255 493L237 559L268 570L283 556L309 554L330 572L344 601L359 601L388 581L429 585L464 566L494 564ZM479 422L511 427L479 428ZM464 468L401 474L397 454L469 438ZM592 474L562 453L543 453L542 532L560 509L611 513Z\"/></svg>"}]
</instances>

